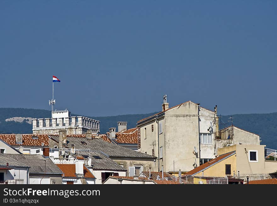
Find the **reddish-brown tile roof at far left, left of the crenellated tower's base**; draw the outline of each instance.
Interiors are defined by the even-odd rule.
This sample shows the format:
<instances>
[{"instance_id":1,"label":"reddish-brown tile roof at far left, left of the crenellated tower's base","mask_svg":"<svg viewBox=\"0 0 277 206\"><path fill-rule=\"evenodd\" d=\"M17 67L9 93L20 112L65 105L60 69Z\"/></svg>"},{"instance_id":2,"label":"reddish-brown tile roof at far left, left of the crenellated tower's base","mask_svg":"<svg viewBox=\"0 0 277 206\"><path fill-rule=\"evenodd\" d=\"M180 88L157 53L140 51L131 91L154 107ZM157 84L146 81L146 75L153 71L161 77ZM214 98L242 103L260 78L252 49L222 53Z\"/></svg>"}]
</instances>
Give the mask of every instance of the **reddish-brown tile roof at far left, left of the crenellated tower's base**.
<instances>
[{"instance_id":1,"label":"reddish-brown tile roof at far left, left of the crenellated tower's base","mask_svg":"<svg viewBox=\"0 0 277 206\"><path fill-rule=\"evenodd\" d=\"M32 136L37 136L38 139L32 139ZM26 146L44 146L49 145L48 135L46 134L22 134L22 144L16 144L15 134L0 135L0 139L9 145L26 145Z\"/></svg>"}]
</instances>

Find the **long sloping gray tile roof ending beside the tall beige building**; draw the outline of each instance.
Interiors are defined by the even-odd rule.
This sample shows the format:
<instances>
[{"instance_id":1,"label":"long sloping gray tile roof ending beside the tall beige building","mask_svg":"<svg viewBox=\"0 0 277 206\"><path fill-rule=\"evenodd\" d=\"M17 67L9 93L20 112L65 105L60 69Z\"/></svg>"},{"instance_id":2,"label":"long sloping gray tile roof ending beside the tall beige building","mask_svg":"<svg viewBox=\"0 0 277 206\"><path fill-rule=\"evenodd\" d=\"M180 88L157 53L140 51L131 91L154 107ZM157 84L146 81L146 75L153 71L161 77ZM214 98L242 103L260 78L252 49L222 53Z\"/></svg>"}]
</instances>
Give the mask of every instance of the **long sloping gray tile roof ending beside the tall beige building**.
<instances>
[{"instance_id":1,"label":"long sloping gray tile roof ending beside the tall beige building","mask_svg":"<svg viewBox=\"0 0 277 206\"><path fill-rule=\"evenodd\" d=\"M49 138L59 142L59 136L49 135ZM109 157L136 157L155 159L154 156L127 149L116 144L110 144L109 142L102 140L102 138L93 138L88 140L85 137L67 137L67 145L64 145L64 147L71 148L72 144L76 149L91 149L92 151L96 152L101 151Z\"/></svg>"}]
</instances>

